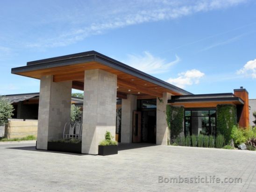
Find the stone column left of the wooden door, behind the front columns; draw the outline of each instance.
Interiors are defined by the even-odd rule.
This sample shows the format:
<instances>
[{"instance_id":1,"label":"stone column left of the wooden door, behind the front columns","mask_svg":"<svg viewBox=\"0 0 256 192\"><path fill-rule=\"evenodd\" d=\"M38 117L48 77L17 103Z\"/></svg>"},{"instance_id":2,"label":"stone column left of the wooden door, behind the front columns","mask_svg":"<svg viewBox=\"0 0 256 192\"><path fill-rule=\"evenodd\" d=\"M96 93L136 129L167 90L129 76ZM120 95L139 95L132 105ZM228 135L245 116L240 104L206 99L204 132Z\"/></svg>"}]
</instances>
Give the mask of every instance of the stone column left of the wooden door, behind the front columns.
<instances>
[{"instance_id":1,"label":"stone column left of the wooden door, behind the front columns","mask_svg":"<svg viewBox=\"0 0 256 192\"><path fill-rule=\"evenodd\" d=\"M122 99L121 142L132 142L133 111L136 109L135 95L127 95L127 99Z\"/></svg>"}]
</instances>

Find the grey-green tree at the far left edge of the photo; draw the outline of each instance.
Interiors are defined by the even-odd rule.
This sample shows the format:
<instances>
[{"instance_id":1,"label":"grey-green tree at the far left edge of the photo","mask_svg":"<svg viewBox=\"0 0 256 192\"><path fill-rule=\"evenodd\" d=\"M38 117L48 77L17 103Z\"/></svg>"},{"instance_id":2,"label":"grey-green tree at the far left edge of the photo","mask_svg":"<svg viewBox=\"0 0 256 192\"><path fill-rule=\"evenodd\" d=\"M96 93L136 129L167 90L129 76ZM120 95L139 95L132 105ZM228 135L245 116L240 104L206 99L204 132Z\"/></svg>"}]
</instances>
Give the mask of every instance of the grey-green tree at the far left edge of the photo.
<instances>
[{"instance_id":1,"label":"grey-green tree at the far left edge of the photo","mask_svg":"<svg viewBox=\"0 0 256 192\"><path fill-rule=\"evenodd\" d=\"M0 126L5 125L13 115L14 107L5 99L0 96Z\"/></svg>"}]
</instances>

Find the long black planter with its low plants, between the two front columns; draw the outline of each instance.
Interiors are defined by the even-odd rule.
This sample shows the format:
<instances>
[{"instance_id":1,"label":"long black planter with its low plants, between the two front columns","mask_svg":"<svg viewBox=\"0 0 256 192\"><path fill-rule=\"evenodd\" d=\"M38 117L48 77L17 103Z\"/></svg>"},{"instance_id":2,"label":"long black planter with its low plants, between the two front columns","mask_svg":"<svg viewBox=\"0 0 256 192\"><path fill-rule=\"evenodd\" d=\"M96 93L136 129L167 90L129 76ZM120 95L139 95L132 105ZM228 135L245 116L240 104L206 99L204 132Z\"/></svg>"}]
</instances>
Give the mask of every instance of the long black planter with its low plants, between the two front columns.
<instances>
[{"instance_id":1,"label":"long black planter with its low plants, between the two front columns","mask_svg":"<svg viewBox=\"0 0 256 192\"><path fill-rule=\"evenodd\" d=\"M48 142L47 150L69 152L69 153L81 153L82 142L81 140L78 140L75 138L51 140Z\"/></svg>"}]
</instances>

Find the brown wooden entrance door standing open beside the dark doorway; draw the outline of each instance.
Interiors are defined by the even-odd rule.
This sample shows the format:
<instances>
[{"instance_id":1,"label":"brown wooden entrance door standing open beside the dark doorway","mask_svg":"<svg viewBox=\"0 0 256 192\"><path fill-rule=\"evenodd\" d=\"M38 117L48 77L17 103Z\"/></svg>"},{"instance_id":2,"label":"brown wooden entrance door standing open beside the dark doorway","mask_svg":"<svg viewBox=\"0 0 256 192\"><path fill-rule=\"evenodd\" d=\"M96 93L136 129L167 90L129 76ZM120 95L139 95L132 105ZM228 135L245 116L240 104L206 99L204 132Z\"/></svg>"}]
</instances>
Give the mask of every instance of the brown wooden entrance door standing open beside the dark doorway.
<instances>
[{"instance_id":1,"label":"brown wooden entrance door standing open beside the dark doorway","mask_svg":"<svg viewBox=\"0 0 256 192\"><path fill-rule=\"evenodd\" d=\"M139 111L133 112L133 142L141 142L142 132L142 113Z\"/></svg>"}]
</instances>

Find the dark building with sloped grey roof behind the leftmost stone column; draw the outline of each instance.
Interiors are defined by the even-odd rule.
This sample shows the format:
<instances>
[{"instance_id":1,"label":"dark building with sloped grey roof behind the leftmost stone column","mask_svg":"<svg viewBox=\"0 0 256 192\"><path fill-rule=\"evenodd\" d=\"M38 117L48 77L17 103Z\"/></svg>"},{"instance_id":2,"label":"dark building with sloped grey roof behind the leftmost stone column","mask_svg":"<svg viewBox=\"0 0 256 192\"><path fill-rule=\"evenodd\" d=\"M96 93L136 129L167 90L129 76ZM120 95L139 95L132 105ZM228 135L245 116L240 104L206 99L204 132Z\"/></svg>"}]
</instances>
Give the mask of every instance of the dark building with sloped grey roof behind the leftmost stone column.
<instances>
[{"instance_id":1,"label":"dark building with sloped grey roof behind the leftmost stone column","mask_svg":"<svg viewBox=\"0 0 256 192\"><path fill-rule=\"evenodd\" d=\"M39 92L4 95L13 105L13 119L38 119ZM71 103L83 102L83 98L71 97Z\"/></svg>"}]
</instances>

